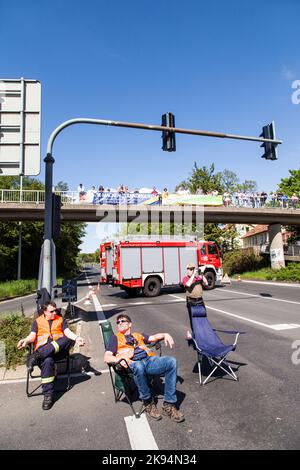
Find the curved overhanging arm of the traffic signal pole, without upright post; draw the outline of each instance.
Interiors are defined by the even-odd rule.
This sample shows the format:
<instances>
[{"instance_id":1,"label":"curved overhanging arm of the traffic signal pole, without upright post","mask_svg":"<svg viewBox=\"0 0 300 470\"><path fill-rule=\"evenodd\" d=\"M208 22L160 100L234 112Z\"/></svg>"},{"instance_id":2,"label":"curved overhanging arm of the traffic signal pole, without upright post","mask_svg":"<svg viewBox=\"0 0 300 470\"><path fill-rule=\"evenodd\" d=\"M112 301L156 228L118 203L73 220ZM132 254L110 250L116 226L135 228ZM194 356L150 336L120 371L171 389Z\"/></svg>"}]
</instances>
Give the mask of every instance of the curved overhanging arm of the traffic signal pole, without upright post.
<instances>
[{"instance_id":1,"label":"curved overhanging arm of the traffic signal pole, without upright post","mask_svg":"<svg viewBox=\"0 0 300 470\"><path fill-rule=\"evenodd\" d=\"M58 126L51 134L48 145L47 153L52 153L52 146L57 135L66 127L69 127L73 124L97 124L100 126L115 126L115 127L127 127L131 129L144 129L148 131L161 131L161 132L175 132L176 134L189 134L189 135L201 135L206 137L217 137L221 139L238 139L238 140L252 140L255 142L271 142L273 144L282 144L282 140L273 140L273 139L264 139L262 137L250 137L245 135L236 135L236 134L224 134L220 132L211 132L211 131L202 131L197 129L182 129L180 127L166 127L166 126L156 126L152 124L140 124L137 122L123 122L123 121L110 121L103 119L90 119L90 118L76 118L70 119L69 121L63 122Z\"/></svg>"}]
</instances>

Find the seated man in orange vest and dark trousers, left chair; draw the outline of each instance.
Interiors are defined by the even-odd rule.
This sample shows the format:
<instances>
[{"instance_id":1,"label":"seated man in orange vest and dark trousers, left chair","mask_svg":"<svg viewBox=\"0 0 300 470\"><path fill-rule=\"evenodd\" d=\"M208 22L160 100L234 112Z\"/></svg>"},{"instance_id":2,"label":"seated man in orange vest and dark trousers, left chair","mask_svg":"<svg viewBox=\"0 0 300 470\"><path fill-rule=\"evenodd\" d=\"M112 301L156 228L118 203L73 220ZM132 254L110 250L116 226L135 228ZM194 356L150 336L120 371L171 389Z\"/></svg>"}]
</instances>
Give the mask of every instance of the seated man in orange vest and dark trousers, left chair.
<instances>
[{"instance_id":1,"label":"seated man in orange vest and dark trousers, left chair","mask_svg":"<svg viewBox=\"0 0 300 470\"><path fill-rule=\"evenodd\" d=\"M27 367L32 372L36 364L40 366L44 395L42 408L49 410L54 402L55 359L63 359L74 343L83 346L85 341L68 328L65 319L57 315L55 302L46 302L41 311L42 314L32 324L31 332L18 342L17 348L34 343L34 353L29 356Z\"/></svg>"}]
</instances>

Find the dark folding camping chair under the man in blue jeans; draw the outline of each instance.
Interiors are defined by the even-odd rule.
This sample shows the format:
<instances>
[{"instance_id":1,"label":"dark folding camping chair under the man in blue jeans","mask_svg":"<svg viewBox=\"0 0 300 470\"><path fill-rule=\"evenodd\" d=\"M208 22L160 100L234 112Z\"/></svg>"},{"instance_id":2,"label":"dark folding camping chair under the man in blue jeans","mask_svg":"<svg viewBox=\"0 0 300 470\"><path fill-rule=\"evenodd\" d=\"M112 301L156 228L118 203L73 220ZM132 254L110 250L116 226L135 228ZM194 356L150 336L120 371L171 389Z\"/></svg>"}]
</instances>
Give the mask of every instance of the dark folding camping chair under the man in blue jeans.
<instances>
[{"instance_id":1,"label":"dark folding camping chair under the man in blue jeans","mask_svg":"<svg viewBox=\"0 0 300 470\"><path fill-rule=\"evenodd\" d=\"M113 334L111 322L109 320L106 320L103 323L101 323L101 329L102 329L102 335L103 335L103 340L104 340L104 346L107 347L109 343L109 339L111 335ZM161 355L161 344L159 341L155 343L147 344L147 347L151 349L152 352L156 352L157 354ZM121 401L122 397L125 396L135 417L140 418L144 407L142 404L139 411L136 411L133 406L133 399L134 399L137 389L136 389L136 384L133 380L132 371L130 367L128 366L127 361L125 359L120 359L116 363L114 362L114 363L108 364L108 367L109 367L109 373L110 373L111 383L112 383L114 397L115 397L115 403L117 403L118 401ZM153 382L154 377L149 376L149 380Z\"/></svg>"}]
</instances>

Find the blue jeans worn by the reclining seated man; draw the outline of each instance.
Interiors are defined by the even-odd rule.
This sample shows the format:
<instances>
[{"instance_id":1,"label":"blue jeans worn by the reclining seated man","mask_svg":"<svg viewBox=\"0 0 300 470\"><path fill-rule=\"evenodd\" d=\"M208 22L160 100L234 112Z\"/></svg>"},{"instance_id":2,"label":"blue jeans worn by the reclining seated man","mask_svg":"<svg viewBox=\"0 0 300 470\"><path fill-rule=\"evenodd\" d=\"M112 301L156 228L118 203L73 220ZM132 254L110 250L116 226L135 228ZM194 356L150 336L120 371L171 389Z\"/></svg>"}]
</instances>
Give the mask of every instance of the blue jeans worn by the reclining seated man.
<instances>
[{"instance_id":1,"label":"blue jeans worn by the reclining seated man","mask_svg":"<svg viewBox=\"0 0 300 470\"><path fill-rule=\"evenodd\" d=\"M149 400L151 391L148 383L148 375L164 375L165 390L164 400L168 403L176 403L177 361L172 356L148 356L140 361L130 364L133 379L139 391L141 400Z\"/></svg>"}]
</instances>

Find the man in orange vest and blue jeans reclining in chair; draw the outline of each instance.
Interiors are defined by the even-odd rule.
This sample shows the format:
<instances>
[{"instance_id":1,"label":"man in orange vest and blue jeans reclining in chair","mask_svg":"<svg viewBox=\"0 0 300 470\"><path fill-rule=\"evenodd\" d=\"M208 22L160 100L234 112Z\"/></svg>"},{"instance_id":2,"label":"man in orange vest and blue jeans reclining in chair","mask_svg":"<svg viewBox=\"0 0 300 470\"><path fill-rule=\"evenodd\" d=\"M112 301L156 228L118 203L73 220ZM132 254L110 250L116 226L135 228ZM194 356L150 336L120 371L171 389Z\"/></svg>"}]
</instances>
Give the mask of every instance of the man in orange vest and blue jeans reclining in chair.
<instances>
[{"instance_id":1,"label":"man in orange vest and blue jeans reclining in chair","mask_svg":"<svg viewBox=\"0 0 300 470\"><path fill-rule=\"evenodd\" d=\"M168 333L157 333L156 335L145 335L131 333L131 319L128 315L120 314L117 317L118 333L112 335L104 354L104 361L116 363L120 359L126 359L133 379L138 388L139 397L143 400L144 409L151 418L161 419L161 414L154 403L148 384L147 375L164 375L165 390L162 413L169 416L172 421L180 423L184 421L184 415L175 406L177 361L175 357L154 356L148 351L147 343L164 340L166 346L172 348L174 341ZM122 361L122 366L127 367Z\"/></svg>"}]
</instances>

